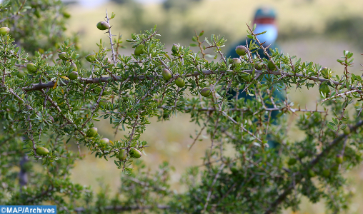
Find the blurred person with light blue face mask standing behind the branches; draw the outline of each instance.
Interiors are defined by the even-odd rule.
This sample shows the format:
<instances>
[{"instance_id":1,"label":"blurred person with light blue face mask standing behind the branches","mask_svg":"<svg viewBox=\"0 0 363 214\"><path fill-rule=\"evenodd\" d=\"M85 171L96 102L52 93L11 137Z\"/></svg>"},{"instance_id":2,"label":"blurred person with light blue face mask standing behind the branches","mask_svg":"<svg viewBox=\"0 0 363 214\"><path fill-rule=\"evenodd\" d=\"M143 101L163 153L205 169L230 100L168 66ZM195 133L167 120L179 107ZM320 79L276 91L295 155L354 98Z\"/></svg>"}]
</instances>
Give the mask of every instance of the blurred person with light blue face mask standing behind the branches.
<instances>
[{"instance_id":1,"label":"blurred person with light blue face mask standing behind the branches","mask_svg":"<svg viewBox=\"0 0 363 214\"><path fill-rule=\"evenodd\" d=\"M270 7L267 6L263 6L260 7L259 9L257 9L256 13L254 14L254 24L257 24L256 29L254 29L254 34L259 34L262 33L264 31L267 31L266 33L257 36L257 39L259 39L259 41L261 43L265 42L263 44L264 47L269 46L269 49L276 49L277 45L275 44L275 41L277 39L277 34L278 34L278 29L277 29L277 19L276 19L276 11ZM253 27L253 25L251 26ZM239 55L236 53L236 46L246 46L246 36L244 37L244 39L242 39L242 41L239 41L238 44L236 44L235 46L232 47L232 49L229 50L229 52L227 53L227 57L230 58L239 58ZM247 38L247 43L249 45L250 41L252 39ZM247 47L247 46L246 46ZM267 50L268 54L271 54L270 50ZM262 49L259 49L258 51L259 56L261 58L267 58L269 59L265 54L264 51ZM270 55L271 56L271 55ZM256 53L252 54L252 57L256 57ZM264 78L262 79L262 81L265 81ZM276 88L276 86L274 87ZM280 89L281 90L281 89ZM236 91L232 91L231 94L233 95L232 97L230 97L230 99L234 98L234 96L236 96ZM283 102L285 100L284 94L282 91L278 91L278 90L274 90L273 93L274 96L274 101L275 103L278 102ZM246 91L244 91L244 88L239 90L239 95L238 98L245 98L247 99L252 99L254 97L252 96L247 96ZM267 108L273 108L274 106L272 105L267 105ZM271 113L271 118L270 121L273 121L272 124L276 124L276 119L277 119L277 114L279 113L279 111L272 111ZM276 148L278 146L278 142L276 141L272 141L269 140L269 136L267 136L267 140L269 143L269 148Z\"/></svg>"}]
</instances>

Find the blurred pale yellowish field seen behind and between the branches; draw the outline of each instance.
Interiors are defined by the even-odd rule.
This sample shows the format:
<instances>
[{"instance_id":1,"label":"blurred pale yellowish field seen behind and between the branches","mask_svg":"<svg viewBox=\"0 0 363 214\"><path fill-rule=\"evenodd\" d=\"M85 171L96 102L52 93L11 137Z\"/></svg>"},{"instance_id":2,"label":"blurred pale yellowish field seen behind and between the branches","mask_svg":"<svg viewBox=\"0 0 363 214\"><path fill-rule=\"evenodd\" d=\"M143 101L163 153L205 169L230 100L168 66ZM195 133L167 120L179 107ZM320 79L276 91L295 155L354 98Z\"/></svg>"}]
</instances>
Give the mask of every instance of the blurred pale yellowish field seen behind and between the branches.
<instances>
[{"instance_id":1,"label":"blurred pale yellowish field seen behind and between the branches","mask_svg":"<svg viewBox=\"0 0 363 214\"><path fill-rule=\"evenodd\" d=\"M189 46L194 36L194 30L204 30L205 36L210 34L224 35L227 39L226 53L230 48L237 46L236 42L246 36L246 23L252 21L254 12L259 6L268 5L277 11L279 23L279 38L277 43L280 51L285 54L296 55L302 61L314 61L323 66L332 68L332 71L341 74L343 67L337 63L337 58L342 56L343 50L355 54L356 66L351 72L361 74L359 63L363 63L363 1L362 0L166 0L154 3L134 0L112 1L65 1L68 4L71 19L69 21L69 35L76 32L79 35L79 45L84 51L98 49L96 43L99 39L107 41L103 31L96 29L96 23L105 16L105 9L114 12L116 17L111 20L112 33L121 34L125 41L131 33L139 33L151 29L156 24L162 42L170 50L171 45L182 44ZM126 49L121 50L121 55L131 54L131 46L123 43ZM300 106L315 108L319 100L318 91L289 91L289 99ZM294 118L289 118L288 138L292 141L301 139L303 133L294 128ZM149 141L146 149L145 161L150 170L156 170L163 161L169 161L174 166L171 186L177 191L183 191L179 179L186 168L202 163L204 150L210 146L208 136L202 136L202 141L197 141L191 151L189 145L193 142L190 138L196 136L199 127L189 122L189 116L179 114L170 121L152 123L141 137ZM119 131L116 136L111 131L108 121L96 124L99 133L110 140L116 140L126 134ZM232 149L227 152L233 154ZM119 175L113 160L109 162L96 160L87 155L84 161L76 163L73 179L77 183L92 185L95 189L98 183L110 185L111 190L121 185ZM347 174L347 179L352 180L352 198L350 213L363 213L363 166ZM286 210L285 213L291 213ZM304 201L300 213L324 213L324 205L312 205Z\"/></svg>"}]
</instances>

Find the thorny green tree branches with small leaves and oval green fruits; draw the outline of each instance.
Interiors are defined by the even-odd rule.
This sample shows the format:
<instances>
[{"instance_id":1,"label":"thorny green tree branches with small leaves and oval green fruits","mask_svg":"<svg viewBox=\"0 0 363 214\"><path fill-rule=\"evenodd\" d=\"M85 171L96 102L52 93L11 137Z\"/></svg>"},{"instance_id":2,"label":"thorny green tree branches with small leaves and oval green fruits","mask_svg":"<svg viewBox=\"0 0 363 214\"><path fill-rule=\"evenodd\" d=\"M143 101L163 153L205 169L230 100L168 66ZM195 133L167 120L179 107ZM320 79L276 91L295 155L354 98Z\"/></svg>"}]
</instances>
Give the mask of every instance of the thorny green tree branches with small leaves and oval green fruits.
<instances>
[{"instance_id":1,"label":"thorny green tree branches with small leaves and oval green fruits","mask_svg":"<svg viewBox=\"0 0 363 214\"><path fill-rule=\"evenodd\" d=\"M363 81L351 71L351 52L338 59L344 70L339 76L277 49L268 54L256 26L247 24L252 41L239 58L224 56L224 36L204 37L204 31L192 37L199 51L179 44L166 50L156 27L132 34L126 42L134 54L121 56L121 37L111 32L115 14L106 11L99 17L104 23L95 23L106 36L84 56L76 36L64 36L69 14L60 1L4 1L0 9L2 204L50 203L60 213L280 213L297 210L305 195L312 203L324 198L333 213L349 208L352 193L343 175L362 162L363 126ZM206 59L206 49L214 60ZM259 49L268 58L254 57ZM272 96L314 87L321 93L314 109L294 107L287 92L284 100ZM230 93L240 89L252 99ZM275 111L277 121L271 119ZM201 151L204 168L183 175L184 193L170 188L168 163L150 174L139 161L153 146L140 139L149 119L176 113L189 113L200 126L194 143L203 131L212 141ZM285 135L291 113L299 115L302 141ZM101 119L115 133L124 131L123 138L100 136L94 121ZM277 147L269 148L269 140ZM227 144L233 156L224 155ZM106 186L94 193L71 181L69 169L83 158L80 146L124 172L116 195Z\"/></svg>"}]
</instances>

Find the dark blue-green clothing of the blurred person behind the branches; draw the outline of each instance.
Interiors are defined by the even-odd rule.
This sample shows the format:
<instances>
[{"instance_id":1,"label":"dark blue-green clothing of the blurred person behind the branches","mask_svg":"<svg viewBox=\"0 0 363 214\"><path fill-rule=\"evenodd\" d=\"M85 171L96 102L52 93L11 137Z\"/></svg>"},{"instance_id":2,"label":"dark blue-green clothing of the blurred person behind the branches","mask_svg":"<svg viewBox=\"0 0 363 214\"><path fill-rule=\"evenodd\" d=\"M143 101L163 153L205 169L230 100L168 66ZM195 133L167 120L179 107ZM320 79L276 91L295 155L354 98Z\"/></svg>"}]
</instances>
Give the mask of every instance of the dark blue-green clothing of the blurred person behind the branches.
<instances>
[{"instance_id":1,"label":"dark blue-green clothing of the blurred person behind the branches","mask_svg":"<svg viewBox=\"0 0 363 214\"><path fill-rule=\"evenodd\" d=\"M251 39L247 39L248 44L250 43L250 41L251 41ZM239 46L239 45L245 46L246 45L246 39L240 41L235 46L232 46L232 49L230 49L229 52L227 53L227 58L228 57L230 57L230 58L239 58L239 55L236 53L236 50L235 50L236 49L236 46ZM275 44L272 44L270 46L270 48L271 49L275 49L275 48L277 48L277 46ZM262 49L259 49L259 51L257 51L257 52L259 53L259 56L261 58L267 58L268 59L268 57L264 54L264 51ZM270 55L271 52L268 51L268 54ZM255 53L254 53L254 55L255 55ZM264 81L264 79L262 80L262 83L263 83L263 81ZM251 99L254 98L254 96L248 96L247 93L246 93L246 91L244 91L244 92L242 92L242 91L243 91L243 89L241 89L239 91L239 95L238 95L238 98L239 99L240 98L245 98L245 99L250 99L251 100ZM230 97L229 99L232 99L232 98L234 98L234 96L236 96L236 91L231 91L230 93L233 96ZM285 99L284 93L282 93L282 91L274 90L272 96L274 97L274 101L275 102L284 101L284 99ZM272 105L267 105L267 108L273 108L273 107L274 106L272 106ZM273 121L272 124L276 124L277 123L276 119L277 119L277 114L278 113L279 113L279 111L272 111L271 118L270 118L270 120ZM277 141L272 141L272 140L269 140L269 139L270 139L270 136L267 135L267 140L268 140L269 148L276 148L279 145L279 143Z\"/></svg>"}]
</instances>

